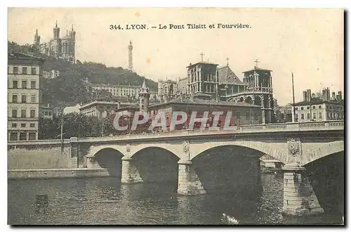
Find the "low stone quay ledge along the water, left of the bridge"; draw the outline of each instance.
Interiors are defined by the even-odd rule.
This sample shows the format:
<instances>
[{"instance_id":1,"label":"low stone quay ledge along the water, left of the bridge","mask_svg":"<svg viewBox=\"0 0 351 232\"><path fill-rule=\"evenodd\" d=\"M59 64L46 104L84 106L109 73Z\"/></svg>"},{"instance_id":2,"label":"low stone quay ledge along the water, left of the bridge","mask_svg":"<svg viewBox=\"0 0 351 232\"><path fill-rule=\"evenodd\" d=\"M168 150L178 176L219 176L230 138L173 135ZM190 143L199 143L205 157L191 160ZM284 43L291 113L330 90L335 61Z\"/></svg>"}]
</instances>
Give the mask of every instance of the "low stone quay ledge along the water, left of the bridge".
<instances>
[{"instance_id":1,"label":"low stone quay ledge along the water, left of the bridge","mask_svg":"<svg viewBox=\"0 0 351 232\"><path fill-rule=\"evenodd\" d=\"M10 169L8 179L51 179L110 176L107 169Z\"/></svg>"}]
</instances>

